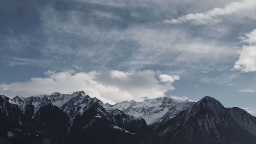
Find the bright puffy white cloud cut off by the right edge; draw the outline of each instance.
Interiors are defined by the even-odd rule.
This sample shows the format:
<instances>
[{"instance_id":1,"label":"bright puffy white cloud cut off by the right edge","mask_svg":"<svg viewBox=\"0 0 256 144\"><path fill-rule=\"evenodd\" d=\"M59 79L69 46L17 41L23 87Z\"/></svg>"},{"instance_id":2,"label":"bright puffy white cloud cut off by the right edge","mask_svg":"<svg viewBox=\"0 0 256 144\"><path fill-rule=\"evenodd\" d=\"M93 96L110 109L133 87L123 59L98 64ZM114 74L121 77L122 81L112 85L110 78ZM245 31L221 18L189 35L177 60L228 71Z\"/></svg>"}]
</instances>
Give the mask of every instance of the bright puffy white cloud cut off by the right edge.
<instances>
[{"instance_id":1,"label":"bright puffy white cloud cut off by the right edge","mask_svg":"<svg viewBox=\"0 0 256 144\"><path fill-rule=\"evenodd\" d=\"M244 73L256 71L256 29L245 34L244 37L240 37L240 39L242 43L248 45L243 45L242 51L239 52L240 57L233 68Z\"/></svg>"}]
</instances>

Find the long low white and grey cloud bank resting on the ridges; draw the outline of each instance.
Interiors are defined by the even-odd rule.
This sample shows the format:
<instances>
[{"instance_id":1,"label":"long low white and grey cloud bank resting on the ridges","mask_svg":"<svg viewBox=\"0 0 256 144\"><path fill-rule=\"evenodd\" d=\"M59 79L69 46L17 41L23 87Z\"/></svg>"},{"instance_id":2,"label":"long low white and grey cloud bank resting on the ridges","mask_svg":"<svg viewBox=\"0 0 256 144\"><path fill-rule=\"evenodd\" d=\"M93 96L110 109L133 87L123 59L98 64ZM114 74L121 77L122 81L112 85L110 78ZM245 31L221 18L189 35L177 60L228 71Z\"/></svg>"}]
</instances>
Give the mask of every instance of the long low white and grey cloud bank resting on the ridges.
<instances>
[{"instance_id":1,"label":"long low white and grey cloud bank resting on the ridges","mask_svg":"<svg viewBox=\"0 0 256 144\"><path fill-rule=\"evenodd\" d=\"M124 72L119 70L97 73L76 73L67 70L57 73L48 70L46 78L31 78L27 82L13 82L0 84L0 93L9 97L22 95L28 97L37 94L50 94L54 91L73 93L84 90L91 97L97 97L105 103L115 103L124 100L141 101L146 98L164 96L165 92L174 90L171 85L179 76L166 76L166 82L161 84L155 77L158 75L153 70ZM170 82L172 78L172 82ZM161 79L162 80L162 79Z\"/></svg>"}]
</instances>

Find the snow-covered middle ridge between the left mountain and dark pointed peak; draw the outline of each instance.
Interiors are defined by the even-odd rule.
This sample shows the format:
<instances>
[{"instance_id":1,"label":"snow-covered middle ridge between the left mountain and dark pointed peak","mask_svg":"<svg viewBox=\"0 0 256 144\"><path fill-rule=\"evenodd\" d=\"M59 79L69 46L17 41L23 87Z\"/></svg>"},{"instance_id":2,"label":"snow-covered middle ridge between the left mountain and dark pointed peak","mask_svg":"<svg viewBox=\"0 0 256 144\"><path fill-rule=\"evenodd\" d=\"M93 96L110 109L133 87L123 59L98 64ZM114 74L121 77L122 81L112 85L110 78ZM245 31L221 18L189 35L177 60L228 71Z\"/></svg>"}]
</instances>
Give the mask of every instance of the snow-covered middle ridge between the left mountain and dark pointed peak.
<instances>
[{"instance_id":1,"label":"snow-covered middle ridge between the left mountain and dark pointed peak","mask_svg":"<svg viewBox=\"0 0 256 144\"><path fill-rule=\"evenodd\" d=\"M143 102L124 101L110 106L135 117L144 118L147 125L155 125L165 121L165 119L174 117L177 113L191 107L194 103L188 100L163 97L146 99Z\"/></svg>"}]
</instances>

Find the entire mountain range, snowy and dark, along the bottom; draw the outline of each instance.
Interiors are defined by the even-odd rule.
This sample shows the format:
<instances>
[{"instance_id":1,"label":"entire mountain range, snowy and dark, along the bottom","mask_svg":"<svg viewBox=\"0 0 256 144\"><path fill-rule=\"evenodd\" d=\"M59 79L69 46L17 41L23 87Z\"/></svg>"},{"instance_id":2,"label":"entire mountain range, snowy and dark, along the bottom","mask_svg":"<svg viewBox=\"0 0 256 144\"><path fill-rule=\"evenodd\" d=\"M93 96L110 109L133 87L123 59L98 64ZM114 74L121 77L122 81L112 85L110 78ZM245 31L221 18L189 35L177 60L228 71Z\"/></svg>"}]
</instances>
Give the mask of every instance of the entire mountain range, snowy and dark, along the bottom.
<instances>
[{"instance_id":1,"label":"entire mountain range, snowy and dark, along the bottom","mask_svg":"<svg viewBox=\"0 0 256 144\"><path fill-rule=\"evenodd\" d=\"M256 143L256 117L204 97L104 104L83 91L0 95L0 143Z\"/></svg>"}]
</instances>

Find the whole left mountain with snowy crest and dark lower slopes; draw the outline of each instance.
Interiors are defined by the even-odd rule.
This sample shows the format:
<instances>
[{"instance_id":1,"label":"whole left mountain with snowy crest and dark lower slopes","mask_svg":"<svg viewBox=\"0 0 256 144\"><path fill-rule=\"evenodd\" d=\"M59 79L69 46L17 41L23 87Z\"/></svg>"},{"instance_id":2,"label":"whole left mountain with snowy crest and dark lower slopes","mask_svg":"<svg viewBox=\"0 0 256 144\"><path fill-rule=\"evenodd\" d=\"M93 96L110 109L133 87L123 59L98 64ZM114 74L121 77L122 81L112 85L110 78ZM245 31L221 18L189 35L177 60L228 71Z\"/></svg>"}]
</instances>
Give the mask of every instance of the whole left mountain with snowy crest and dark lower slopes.
<instances>
[{"instance_id":1,"label":"whole left mountain with snowy crest and dark lower slopes","mask_svg":"<svg viewBox=\"0 0 256 144\"><path fill-rule=\"evenodd\" d=\"M1 95L0 108L0 137L12 143L141 143L151 132L144 119L83 91L13 99Z\"/></svg>"}]
</instances>

